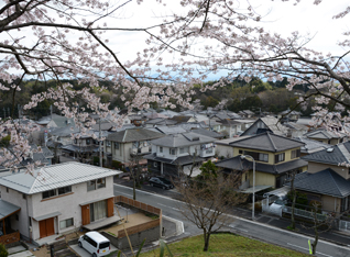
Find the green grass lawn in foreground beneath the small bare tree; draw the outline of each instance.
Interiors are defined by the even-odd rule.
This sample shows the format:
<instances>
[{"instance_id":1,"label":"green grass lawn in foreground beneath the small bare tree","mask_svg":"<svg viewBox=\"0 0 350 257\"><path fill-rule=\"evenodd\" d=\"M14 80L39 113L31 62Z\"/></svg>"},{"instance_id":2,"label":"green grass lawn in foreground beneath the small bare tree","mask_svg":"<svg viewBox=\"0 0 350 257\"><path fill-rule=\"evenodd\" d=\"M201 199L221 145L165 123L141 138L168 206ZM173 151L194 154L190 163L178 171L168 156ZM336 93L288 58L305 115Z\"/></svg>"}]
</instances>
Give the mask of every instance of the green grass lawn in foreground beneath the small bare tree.
<instances>
[{"instance_id":1,"label":"green grass lawn in foreground beneath the small bare tree","mask_svg":"<svg viewBox=\"0 0 350 257\"><path fill-rule=\"evenodd\" d=\"M265 244L232 234L216 234L210 236L209 250L203 252L203 236L194 236L181 242L169 244L169 249L174 256L309 256L291 249L285 249L275 245ZM306 246L307 247L307 246ZM164 256L168 256L165 250ZM141 254L142 257L158 257L160 249L154 249Z\"/></svg>"}]
</instances>

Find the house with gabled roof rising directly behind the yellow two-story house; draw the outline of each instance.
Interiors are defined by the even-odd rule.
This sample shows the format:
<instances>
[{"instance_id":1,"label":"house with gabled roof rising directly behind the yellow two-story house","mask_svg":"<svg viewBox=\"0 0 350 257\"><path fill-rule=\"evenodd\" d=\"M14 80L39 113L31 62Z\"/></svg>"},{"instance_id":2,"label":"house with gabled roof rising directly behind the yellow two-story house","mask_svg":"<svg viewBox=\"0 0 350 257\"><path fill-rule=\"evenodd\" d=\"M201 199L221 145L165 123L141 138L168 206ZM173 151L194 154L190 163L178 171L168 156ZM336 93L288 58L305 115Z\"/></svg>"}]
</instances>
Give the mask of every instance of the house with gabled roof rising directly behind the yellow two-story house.
<instances>
[{"instance_id":1,"label":"house with gabled roof rising directly behind the yellow two-story house","mask_svg":"<svg viewBox=\"0 0 350 257\"><path fill-rule=\"evenodd\" d=\"M264 132L272 132L276 135L287 136L288 130L274 116L259 118L242 135L256 135Z\"/></svg>"}]
</instances>

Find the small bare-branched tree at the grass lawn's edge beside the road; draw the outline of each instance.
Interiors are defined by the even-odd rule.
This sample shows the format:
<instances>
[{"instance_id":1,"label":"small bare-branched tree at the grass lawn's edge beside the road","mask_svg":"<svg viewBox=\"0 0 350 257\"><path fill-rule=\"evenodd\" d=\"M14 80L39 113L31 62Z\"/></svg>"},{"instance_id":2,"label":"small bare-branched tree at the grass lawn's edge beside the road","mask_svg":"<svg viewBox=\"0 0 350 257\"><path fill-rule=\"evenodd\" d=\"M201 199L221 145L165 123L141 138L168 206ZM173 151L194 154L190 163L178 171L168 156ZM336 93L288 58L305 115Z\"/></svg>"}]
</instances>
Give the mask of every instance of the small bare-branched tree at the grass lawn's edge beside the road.
<instances>
[{"instance_id":1,"label":"small bare-branched tree at the grass lawn's edge beside the road","mask_svg":"<svg viewBox=\"0 0 350 257\"><path fill-rule=\"evenodd\" d=\"M201 166L201 179L176 185L185 204L179 209L182 214L203 230L204 252L209 248L210 235L232 222L225 214L227 209L247 200L247 195L234 190L241 183L242 174L226 175L214 167L208 161Z\"/></svg>"}]
</instances>

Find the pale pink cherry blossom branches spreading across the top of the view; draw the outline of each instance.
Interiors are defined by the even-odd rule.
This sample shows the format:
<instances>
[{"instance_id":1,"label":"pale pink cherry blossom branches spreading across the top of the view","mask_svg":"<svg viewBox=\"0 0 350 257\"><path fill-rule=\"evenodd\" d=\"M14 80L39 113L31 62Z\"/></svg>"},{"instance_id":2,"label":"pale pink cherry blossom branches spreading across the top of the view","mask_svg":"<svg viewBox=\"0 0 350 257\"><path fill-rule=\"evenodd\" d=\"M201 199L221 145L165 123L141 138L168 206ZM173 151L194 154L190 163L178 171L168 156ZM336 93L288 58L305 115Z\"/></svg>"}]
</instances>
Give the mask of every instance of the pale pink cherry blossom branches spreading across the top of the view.
<instances>
[{"instance_id":1,"label":"pale pink cherry blossom branches spreading across the top of the view","mask_svg":"<svg viewBox=\"0 0 350 257\"><path fill-rule=\"evenodd\" d=\"M103 90L101 80L122 88L119 98L129 110L142 110L150 103L193 108L194 85L201 85L200 90L205 91L238 76L245 80L252 76L269 80L287 77L289 90L297 85L311 89L300 96L299 104L315 98L320 119L336 123L330 124L333 126L349 121L347 114L340 114L350 105L348 40L339 43L344 49L339 56L310 49L307 43L311 38L297 32L284 37L265 31L261 24L263 16L248 0L154 1L165 11L155 13L157 19L152 24L143 24L141 19L134 25L123 15L128 8L134 8L132 0L3 0L0 90L12 89L15 104L21 81L55 80L55 86L32 96L24 110L51 100L62 114L75 120L84 134L86 125L96 123L91 120L84 124L88 112L122 123L123 116L117 116L94 93L96 89ZM174 2L181 8L174 9ZM320 2L316 0L315 4ZM136 3L146 9L150 1ZM347 19L349 11L347 8L336 13L335 19ZM147 37L147 46L122 58L111 44L113 33L141 33ZM350 32L344 34L349 36ZM204 83L209 75L222 71L227 75L219 82ZM73 90L63 79L77 79L87 87ZM11 134L10 145L1 146L0 164L13 168L30 155L26 138L34 128L13 119L0 123L0 139Z\"/></svg>"}]
</instances>

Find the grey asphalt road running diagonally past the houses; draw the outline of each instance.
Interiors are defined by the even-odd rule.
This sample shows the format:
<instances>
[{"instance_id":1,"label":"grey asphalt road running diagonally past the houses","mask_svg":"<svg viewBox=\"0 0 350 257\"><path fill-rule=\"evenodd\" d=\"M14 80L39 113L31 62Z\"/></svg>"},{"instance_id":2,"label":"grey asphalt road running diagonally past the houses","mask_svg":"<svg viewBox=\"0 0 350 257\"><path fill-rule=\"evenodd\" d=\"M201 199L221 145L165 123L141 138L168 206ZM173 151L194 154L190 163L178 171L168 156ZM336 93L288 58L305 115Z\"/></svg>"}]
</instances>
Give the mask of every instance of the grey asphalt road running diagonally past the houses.
<instances>
[{"instance_id":1,"label":"grey asphalt road running diagonally past the houses","mask_svg":"<svg viewBox=\"0 0 350 257\"><path fill-rule=\"evenodd\" d=\"M184 234L176 238L201 234L201 231L194 224L188 222L179 212L183 206L178 200L162 195L162 192L168 194L166 191L160 191L158 193L150 193L145 191L136 191L136 200L161 208L163 215L182 221L184 227ZM114 183L114 195L125 195L132 198L132 188L120 186ZM234 233L242 234L244 236L253 237L266 243L281 245L286 248L295 249L302 253L308 254L308 239L313 242L313 237L293 233L278 227L270 226L267 224L241 219L234 216L234 221L223 230L230 230ZM174 238L175 239L175 238ZM350 245L350 237L349 237ZM326 257L341 257L350 256L350 247L340 246L325 241L319 241L317 245L317 256Z\"/></svg>"}]
</instances>

